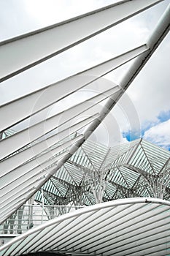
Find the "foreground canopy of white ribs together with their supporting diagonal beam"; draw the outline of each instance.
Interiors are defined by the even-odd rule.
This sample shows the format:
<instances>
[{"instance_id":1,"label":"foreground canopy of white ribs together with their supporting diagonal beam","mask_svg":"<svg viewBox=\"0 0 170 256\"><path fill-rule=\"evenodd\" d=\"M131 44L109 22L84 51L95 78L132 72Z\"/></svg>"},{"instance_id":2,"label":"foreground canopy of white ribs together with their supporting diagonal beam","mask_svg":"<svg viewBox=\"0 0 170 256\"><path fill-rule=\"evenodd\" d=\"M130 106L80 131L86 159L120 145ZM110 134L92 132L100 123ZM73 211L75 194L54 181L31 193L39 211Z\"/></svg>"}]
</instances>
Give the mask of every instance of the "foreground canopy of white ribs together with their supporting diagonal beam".
<instances>
[{"instance_id":1,"label":"foreground canopy of white ribs together with their supporting diagonal beam","mask_svg":"<svg viewBox=\"0 0 170 256\"><path fill-rule=\"evenodd\" d=\"M159 2L161 1L119 1L72 20L1 42L0 81L7 80ZM168 8L146 44L0 106L0 132L3 138L0 141L0 223L45 184L112 110L169 32L169 12ZM66 37L62 37L62 34ZM134 58L136 61L120 85L102 78ZM70 99L72 94L82 88L94 89L96 80L100 86L95 95L88 95L81 102L73 101L69 108L56 110L52 116L47 116L48 107L56 102L62 105L64 99ZM107 99L104 108L99 108L99 102L104 99ZM37 113L41 119L37 118ZM3 134L7 134L7 129L15 124L23 124L22 121L29 121L28 125L4 138ZM75 136L75 132L84 127L83 132ZM72 169L72 166L68 163L67 168ZM76 172L74 175L76 176ZM88 200L93 200L90 197L91 195Z\"/></svg>"}]
</instances>

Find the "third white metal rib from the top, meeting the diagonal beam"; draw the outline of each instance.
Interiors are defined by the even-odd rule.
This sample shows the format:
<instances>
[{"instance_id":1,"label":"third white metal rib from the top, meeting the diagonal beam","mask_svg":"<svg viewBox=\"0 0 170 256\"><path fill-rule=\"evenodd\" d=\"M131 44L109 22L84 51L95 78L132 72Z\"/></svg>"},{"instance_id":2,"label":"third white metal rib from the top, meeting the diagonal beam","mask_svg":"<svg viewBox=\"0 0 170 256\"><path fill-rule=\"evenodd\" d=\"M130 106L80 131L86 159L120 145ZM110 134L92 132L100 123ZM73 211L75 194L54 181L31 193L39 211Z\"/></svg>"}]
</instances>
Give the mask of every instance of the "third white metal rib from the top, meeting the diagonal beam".
<instances>
[{"instance_id":1,"label":"third white metal rib from the top, meeting the diagonal beam","mask_svg":"<svg viewBox=\"0 0 170 256\"><path fill-rule=\"evenodd\" d=\"M61 127L61 125L63 124L67 123L68 127L71 126L74 118L76 118L77 116L83 118L83 115L81 114L83 113L84 115L87 115L89 109L89 116L93 116L98 110L98 106L96 109L96 105L98 104L98 102L107 99L109 95L114 94L119 90L119 86L115 86L113 89L102 91L95 97L90 97L84 102L74 105L72 108L67 108L66 110L63 110L62 112L57 113L54 116L50 116L48 118L46 117L45 120L40 121L39 123L34 124L26 129L23 129L22 131L15 133L15 135L9 136L8 138L1 140L0 146L1 148L3 148L3 151L1 151L0 159L9 156L13 152L18 151L18 149L23 148L29 143L32 143L34 140L42 137L48 132L51 132L53 129Z\"/></svg>"}]
</instances>

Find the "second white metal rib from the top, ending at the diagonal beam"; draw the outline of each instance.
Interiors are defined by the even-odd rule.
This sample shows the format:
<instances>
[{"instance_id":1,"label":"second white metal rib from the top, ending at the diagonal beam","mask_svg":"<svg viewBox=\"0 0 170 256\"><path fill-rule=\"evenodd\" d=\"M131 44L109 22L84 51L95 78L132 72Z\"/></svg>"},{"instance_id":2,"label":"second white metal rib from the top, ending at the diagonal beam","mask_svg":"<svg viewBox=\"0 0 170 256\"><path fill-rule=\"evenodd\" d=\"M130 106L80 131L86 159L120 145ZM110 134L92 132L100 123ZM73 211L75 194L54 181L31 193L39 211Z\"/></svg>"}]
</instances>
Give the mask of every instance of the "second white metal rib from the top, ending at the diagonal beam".
<instances>
[{"instance_id":1,"label":"second white metal rib from the top, ending at the diagonal beam","mask_svg":"<svg viewBox=\"0 0 170 256\"><path fill-rule=\"evenodd\" d=\"M70 78L58 81L50 86L34 91L34 93L27 94L23 97L12 100L12 102L7 102L7 104L1 105L0 130L3 131L12 127L14 124L17 124L19 121L22 121L29 116L33 116L34 113L47 108L69 94L73 94L75 91L93 83L93 81L98 80L108 72L120 67L122 64L125 64L125 62L134 59L146 50L148 50L147 45L142 45L141 47L130 50L127 53L123 53L109 61L105 61L95 67L91 67L90 69L77 73ZM91 89L92 88L93 84L91 85ZM107 87L105 88L105 91L106 90ZM101 87L100 91L104 91L104 88ZM11 110L12 115L10 115Z\"/></svg>"}]
</instances>

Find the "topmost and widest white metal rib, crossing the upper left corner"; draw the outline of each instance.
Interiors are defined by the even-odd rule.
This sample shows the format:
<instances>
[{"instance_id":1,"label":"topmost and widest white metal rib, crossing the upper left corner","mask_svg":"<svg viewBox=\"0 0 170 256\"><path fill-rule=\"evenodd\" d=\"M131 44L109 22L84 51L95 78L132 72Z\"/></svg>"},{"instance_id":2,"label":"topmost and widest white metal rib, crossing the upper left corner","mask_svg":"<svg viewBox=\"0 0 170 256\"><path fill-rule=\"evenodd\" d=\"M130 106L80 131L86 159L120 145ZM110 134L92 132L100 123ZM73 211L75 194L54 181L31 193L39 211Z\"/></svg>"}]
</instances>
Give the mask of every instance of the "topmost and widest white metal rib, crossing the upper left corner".
<instances>
[{"instance_id":1,"label":"topmost and widest white metal rib, crossing the upper left corner","mask_svg":"<svg viewBox=\"0 0 170 256\"><path fill-rule=\"evenodd\" d=\"M158 2L161 0L123 0L1 42L0 82L117 25Z\"/></svg>"}]
</instances>

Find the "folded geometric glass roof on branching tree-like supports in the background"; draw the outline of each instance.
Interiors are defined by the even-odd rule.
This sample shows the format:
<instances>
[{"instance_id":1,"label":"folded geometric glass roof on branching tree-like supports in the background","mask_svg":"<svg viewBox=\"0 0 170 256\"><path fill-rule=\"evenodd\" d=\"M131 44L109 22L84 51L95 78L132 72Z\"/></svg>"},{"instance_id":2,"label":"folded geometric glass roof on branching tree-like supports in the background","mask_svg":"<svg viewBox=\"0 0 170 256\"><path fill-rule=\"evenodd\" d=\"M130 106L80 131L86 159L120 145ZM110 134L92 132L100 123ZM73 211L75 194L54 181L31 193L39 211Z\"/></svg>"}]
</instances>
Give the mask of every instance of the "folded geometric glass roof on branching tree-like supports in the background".
<instances>
[{"instance_id":1,"label":"folded geometric glass roof on branching tree-like supports in the background","mask_svg":"<svg viewBox=\"0 0 170 256\"><path fill-rule=\"evenodd\" d=\"M85 206L125 197L170 200L169 165L170 152L146 140L112 148L87 140L42 187L43 200Z\"/></svg>"}]
</instances>

